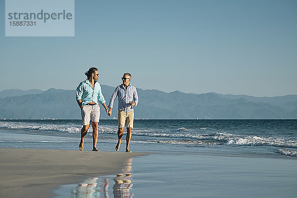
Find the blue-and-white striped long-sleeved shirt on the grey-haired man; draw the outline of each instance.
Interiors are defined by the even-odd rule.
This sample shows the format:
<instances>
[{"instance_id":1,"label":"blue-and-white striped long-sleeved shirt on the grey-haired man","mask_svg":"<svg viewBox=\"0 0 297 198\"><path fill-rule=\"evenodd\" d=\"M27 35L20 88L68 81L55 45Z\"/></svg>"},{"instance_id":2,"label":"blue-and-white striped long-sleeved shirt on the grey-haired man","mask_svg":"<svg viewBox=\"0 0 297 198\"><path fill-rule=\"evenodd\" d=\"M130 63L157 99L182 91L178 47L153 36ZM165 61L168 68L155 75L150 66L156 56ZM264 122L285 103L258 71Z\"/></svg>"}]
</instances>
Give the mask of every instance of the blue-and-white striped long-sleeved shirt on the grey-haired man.
<instances>
[{"instance_id":1,"label":"blue-and-white striped long-sleeved shirt on the grey-haired man","mask_svg":"<svg viewBox=\"0 0 297 198\"><path fill-rule=\"evenodd\" d=\"M137 91L136 88L132 85L129 85L127 89L125 89L124 84L118 85L111 95L108 105L109 108L113 107L113 102L116 97L118 97L119 101L118 110L124 109L125 112L133 111L133 106L131 106L130 102L135 102L135 106L138 103Z\"/></svg>"}]
</instances>

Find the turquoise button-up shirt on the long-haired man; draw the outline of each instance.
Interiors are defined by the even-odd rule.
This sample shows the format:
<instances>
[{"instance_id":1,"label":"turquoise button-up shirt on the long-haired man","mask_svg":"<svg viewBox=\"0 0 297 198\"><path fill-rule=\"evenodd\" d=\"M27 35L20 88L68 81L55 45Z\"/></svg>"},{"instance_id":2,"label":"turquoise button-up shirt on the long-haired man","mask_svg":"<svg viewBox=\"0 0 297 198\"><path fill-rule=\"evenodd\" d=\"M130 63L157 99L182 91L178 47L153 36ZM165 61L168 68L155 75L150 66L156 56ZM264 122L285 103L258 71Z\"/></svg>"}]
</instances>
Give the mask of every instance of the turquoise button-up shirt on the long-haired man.
<instances>
[{"instance_id":1,"label":"turquoise button-up shirt on the long-haired man","mask_svg":"<svg viewBox=\"0 0 297 198\"><path fill-rule=\"evenodd\" d=\"M76 88L76 100L79 99L82 100L83 106L90 102L95 102L96 104L103 104L106 102L103 97L99 82L95 82L95 86L93 89L88 79L81 82Z\"/></svg>"}]
</instances>

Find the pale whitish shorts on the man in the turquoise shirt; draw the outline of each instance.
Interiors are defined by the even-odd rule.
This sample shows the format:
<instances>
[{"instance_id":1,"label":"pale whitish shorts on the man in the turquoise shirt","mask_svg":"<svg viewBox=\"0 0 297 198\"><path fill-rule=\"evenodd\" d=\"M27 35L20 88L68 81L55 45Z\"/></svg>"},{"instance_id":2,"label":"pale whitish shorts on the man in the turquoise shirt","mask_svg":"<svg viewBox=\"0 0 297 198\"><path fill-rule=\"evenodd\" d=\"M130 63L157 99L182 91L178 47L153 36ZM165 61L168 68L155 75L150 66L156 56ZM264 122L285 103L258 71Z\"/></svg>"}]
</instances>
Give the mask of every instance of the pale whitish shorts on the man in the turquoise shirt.
<instances>
[{"instance_id":1,"label":"pale whitish shorts on the man in the turquoise shirt","mask_svg":"<svg viewBox=\"0 0 297 198\"><path fill-rule=\"evenodd\" d=\"M92 122L99 122L100 118L100 107L99 104L95 105L85 105L81 110L83 125L89 125L90 120Z\"/></svg>"}]
</instances>

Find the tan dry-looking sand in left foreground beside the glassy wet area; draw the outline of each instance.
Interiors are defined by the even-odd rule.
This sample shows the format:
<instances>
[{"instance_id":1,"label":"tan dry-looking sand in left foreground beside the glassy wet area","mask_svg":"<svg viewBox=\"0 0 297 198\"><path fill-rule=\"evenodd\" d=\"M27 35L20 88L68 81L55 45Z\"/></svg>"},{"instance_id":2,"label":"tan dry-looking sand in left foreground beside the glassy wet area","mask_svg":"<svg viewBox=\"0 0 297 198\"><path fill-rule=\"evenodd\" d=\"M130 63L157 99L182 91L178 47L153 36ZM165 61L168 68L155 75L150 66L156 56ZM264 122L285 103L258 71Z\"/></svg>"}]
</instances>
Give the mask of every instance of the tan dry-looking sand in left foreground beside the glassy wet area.
<instances>
[{"instance_id":1,"label":"tan dry-looking sand in left foreground beside the glassy wet area","mask_svg":"<svg viewBox=\"0 0 297 198\"><path fill-rule=\"evenodd\" d=\"M120 173L126 159L144 154L0 148L0 197L52 197L59 185Z\"/></svg>"}]
</instances>

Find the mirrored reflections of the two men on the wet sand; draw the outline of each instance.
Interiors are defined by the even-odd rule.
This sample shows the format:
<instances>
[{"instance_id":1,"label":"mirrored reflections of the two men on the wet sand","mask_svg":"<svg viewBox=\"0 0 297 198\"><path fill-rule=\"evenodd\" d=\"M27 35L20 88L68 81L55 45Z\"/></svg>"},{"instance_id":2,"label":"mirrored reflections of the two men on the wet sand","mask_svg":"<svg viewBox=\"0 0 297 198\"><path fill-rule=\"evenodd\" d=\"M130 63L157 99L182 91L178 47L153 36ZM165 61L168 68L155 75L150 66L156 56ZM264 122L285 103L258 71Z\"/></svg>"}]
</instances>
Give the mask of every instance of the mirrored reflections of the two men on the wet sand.
<instances>
[{"instance_id":1,"label":"mirrored reflections of the two men on the wet sand","mask_svg":"<svg viewBox=\"0 0 297 198\"><path fill-rule=\"evenodd\" d=\"M115 182L112 187L114 198L132 198L133 194L130 193L130 189L133 186L131 181L131 164L132 158L127 159L121 173L113 178ZM72 198L109 198L111 190L109 192L108 187L109 181L107 178L94 177L79 184L72 191Z\"/></svg>"}]
</instances>

